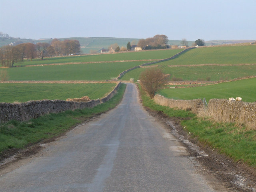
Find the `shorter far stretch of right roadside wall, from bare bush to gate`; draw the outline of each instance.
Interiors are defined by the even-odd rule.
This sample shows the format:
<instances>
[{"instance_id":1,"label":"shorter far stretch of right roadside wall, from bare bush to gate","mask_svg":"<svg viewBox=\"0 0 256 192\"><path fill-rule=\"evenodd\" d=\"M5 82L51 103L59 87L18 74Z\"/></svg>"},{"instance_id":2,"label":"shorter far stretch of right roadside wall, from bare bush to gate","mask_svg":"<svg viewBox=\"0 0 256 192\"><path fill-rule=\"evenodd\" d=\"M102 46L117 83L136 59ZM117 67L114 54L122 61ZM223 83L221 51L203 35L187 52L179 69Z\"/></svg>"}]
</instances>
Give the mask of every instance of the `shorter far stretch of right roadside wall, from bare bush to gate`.
<instances>
[{"instance_id":1,"label":"shorter far stretch of right roadside wall, from bare bush to gate","mask_svg":"<svg viewBox=\"0 0 256 192\"><path fill-rule=\"evenodd\" d=\"M162 106L168 106L170 108L178 108L182 110L191 110L193 113L198 113L198 111L204 107L202 99L175 100L168 99L157 94L154 96L154 101Z\"/></svg>"}]
</instances>

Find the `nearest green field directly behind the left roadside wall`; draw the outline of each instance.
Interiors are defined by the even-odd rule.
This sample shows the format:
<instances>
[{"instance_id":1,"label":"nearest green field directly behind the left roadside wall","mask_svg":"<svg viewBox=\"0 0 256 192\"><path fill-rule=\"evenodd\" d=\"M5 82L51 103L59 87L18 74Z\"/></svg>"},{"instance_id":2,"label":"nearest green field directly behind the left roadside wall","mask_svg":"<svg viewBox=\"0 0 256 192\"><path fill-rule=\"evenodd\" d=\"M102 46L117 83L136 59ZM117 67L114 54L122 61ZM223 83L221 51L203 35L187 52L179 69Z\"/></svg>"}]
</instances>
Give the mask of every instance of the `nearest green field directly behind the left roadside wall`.
<instances>
[{"instance_id":1,"label":"nearest green field directly behind the left roadside wall","mask_svg":"<svg viewBox=\"0 0 256 192\"><path fill-rule=\"evenodd\" d=\"M26 102L29 100L66 100L67 98L102 98L111 92L116 84L0 84L0 102Z\"/></svg>"}]
</instances>

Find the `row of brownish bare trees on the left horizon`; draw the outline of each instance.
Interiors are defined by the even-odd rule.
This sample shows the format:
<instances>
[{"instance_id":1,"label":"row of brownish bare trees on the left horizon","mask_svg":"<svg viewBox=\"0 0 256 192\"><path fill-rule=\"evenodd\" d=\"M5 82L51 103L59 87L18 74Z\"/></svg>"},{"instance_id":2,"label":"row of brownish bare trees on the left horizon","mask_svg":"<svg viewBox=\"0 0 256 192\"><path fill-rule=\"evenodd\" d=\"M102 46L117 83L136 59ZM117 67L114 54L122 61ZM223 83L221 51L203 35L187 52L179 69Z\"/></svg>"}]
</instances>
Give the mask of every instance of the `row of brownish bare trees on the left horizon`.
<instances>
[{"instance_id":1,"label":"row of brownish bare trees on the left horizon","mask_svg":"<svg viewBox=\"0 0 256 192\"><path fill-rule=\"evenodd\" d=\"M78 40L58 40L52 42L22 43L16 46L2 46L0 48L0 64L3 67L12 67L14 63L22 62L24 59L65 56L80 53L80 43Z\"/></svg>"}]
</instances>

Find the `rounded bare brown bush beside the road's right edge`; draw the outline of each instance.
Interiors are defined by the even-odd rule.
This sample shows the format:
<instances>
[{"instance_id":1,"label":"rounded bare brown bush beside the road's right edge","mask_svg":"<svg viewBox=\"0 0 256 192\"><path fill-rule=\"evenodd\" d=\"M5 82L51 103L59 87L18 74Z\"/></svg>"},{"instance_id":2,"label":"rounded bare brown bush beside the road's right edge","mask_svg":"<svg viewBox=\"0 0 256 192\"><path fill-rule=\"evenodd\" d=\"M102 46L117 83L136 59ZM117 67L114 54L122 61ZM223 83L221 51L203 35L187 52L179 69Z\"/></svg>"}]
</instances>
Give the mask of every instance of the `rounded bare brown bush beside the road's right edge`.
<instances>
[{"instance_id":1,"label":"rounded bare brown bush beside the road's right edge","mask_svg":"<svg viewBox=\"0 0 256 192\"><path fill-rule=\"evenodd\" d=\"M154 98L156 91L162 88L169 80L170 74L164 74L161 69L149 68L140 74L140 84Z\"/></svg>"}]
</instances>

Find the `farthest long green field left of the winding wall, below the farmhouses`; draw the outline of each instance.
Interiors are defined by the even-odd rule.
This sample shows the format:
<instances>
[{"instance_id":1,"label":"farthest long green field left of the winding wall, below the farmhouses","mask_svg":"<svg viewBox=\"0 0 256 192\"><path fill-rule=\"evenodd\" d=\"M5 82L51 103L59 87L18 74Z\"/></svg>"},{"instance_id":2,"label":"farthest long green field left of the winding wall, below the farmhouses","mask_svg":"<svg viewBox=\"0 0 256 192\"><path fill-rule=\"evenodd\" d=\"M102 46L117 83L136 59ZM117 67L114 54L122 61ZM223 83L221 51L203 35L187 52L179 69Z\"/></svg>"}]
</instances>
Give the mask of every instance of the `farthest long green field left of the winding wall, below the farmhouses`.
<instances>
[{"instance_id":1,"label":"farthest long green field left of the winding wall, below the farmhouses","mask_svg":"<svg viewBox=\"0 0 256 192\"><path fill-rule=\"evenodd\" d=\"M15 65L39 65L39 64L55 64L55 63L70 63L70 62L100 62L100 61L122 61L122 60L142 60L142 59L164 59L169 58L183 49L167 49L167 50L150 50L139 52L119 52L114 54L96 54L83 56L66 56L44 58L44 60L33 59L32 61L24 60L24 62L16 63ZM146 62L144 62L146 63Z\"/></svg>"}]
</instances>

